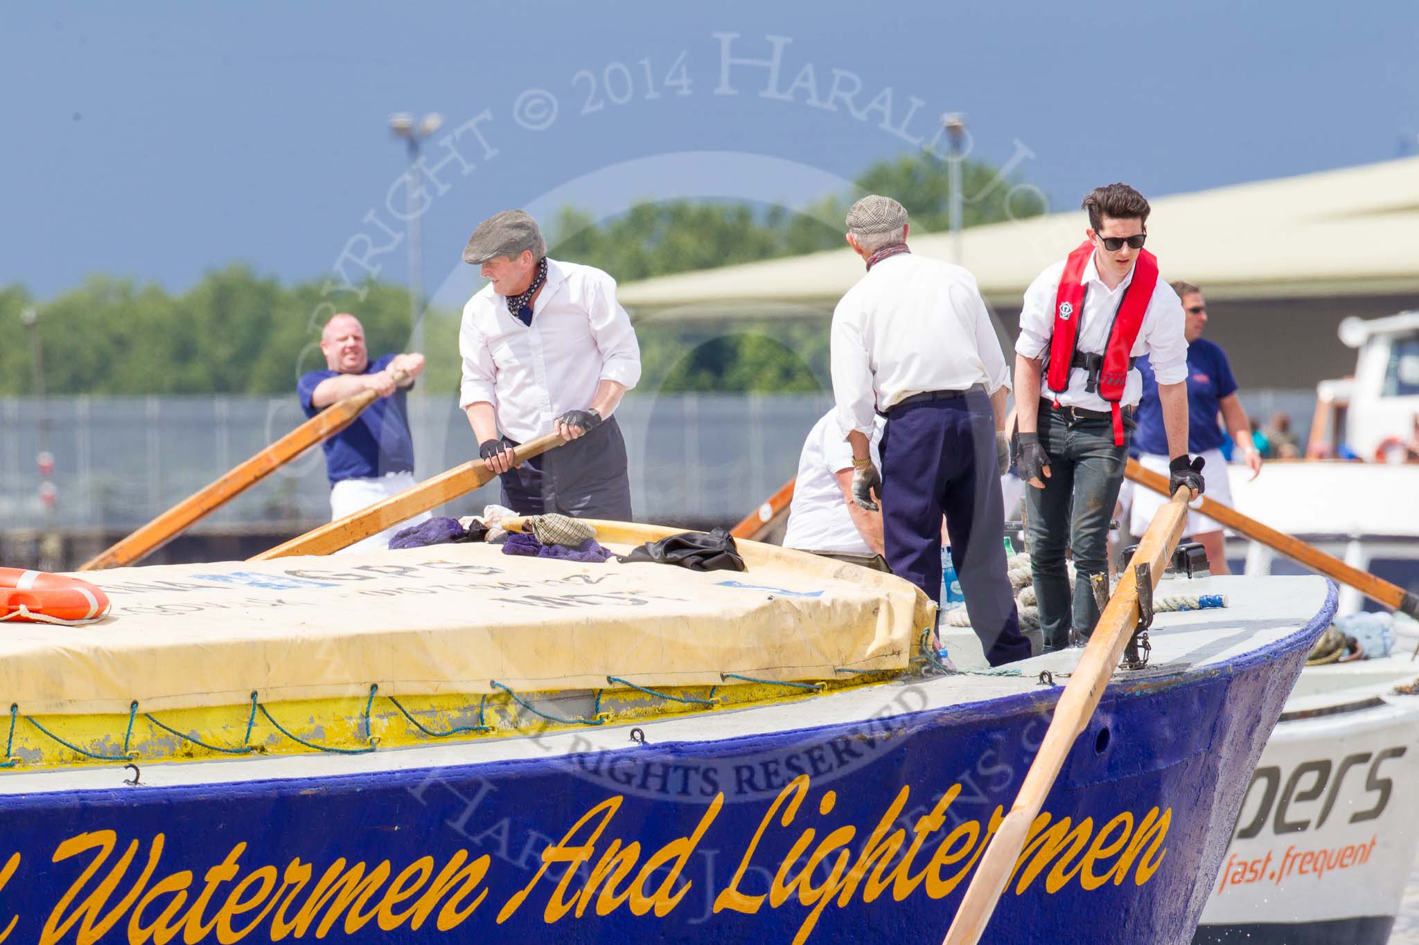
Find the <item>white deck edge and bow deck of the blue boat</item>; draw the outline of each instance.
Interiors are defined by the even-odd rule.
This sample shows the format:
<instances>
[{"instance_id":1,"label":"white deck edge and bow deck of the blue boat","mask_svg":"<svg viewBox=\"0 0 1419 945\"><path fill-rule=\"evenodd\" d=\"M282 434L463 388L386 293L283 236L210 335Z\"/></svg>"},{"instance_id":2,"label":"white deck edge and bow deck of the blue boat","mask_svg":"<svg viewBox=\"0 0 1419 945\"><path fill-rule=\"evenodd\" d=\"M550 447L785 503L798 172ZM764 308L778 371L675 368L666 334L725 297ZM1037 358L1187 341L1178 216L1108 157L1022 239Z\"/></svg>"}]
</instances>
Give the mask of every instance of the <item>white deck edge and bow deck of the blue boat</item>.
<instances>
[{"instance_id":1,"label":"white deck edge and bow deck of the blue boat","mask_svg":"<svg viewBox=\"0 0 1419 945\"><path fill-rule=\"evenodd\" d=\"M1178 585L1176 588L1171 585ZM1327 584L1314 577L1220 577L1174 579L1161 594L1226 594L1230 606L1196 612L1159 613L1149 632L1152 662L1145 674L1176 673L1225 663L1263 649L1303 628L1325 602ZM816 725L849 724L876 715L897 715L922 708L945 708L1000 698L1039 689L1040 670L1050 670L1063 686L1081 650L1050 653L1012 664L1020 676L955 674L863 687L782 704L671 715L634 725L585 727L548 735L514 735L498 740L385 749L368 755L287 755L234 761L165 762L142 766L143 785L200 785L281 778L312 778L412 768L468 765L518 758L553 758L629 747L633 727L650 744L667 741L717 741ZM1115 681L1135 676L1125 670ZM1139 677L1141 676L1135 676ZM1287 680L1288 683L1290 680ZM122 786L119 765L106 768L17 772L0 775L0 793L35 793Z\"/></svg>"}]
</instances>

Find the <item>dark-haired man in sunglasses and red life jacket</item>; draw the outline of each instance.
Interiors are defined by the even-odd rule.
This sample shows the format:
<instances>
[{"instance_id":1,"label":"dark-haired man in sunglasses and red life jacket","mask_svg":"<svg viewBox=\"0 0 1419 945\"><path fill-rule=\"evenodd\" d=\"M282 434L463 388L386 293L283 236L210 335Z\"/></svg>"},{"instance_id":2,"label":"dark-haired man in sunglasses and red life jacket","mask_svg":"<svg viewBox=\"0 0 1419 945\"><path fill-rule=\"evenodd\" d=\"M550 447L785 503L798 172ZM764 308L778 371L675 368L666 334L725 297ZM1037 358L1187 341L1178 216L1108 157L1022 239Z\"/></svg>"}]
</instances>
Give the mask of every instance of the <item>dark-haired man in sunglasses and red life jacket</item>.
<instances>
[{"instance_id":1,"label":"dark-haired man in sunglasses and red life jacket","mask_svg":"<svg viewBox=\"0 0 1419 945\"><path fill-rule=\"evenodd\" d=\"M1148 354L1156 375L1172 489L1203 487L1202 463L1188 456L1182 305L1144 249L1148 201L1110 184L1083 208L1086 241L1026 289L1015 346L1019 470L1033 486L1025 490L1027 541L1046 652L1083 642L1098 622L1091 577L1108 574L1108 523L1142 392L1137 356Z\"/></svg>"}]
</instances>

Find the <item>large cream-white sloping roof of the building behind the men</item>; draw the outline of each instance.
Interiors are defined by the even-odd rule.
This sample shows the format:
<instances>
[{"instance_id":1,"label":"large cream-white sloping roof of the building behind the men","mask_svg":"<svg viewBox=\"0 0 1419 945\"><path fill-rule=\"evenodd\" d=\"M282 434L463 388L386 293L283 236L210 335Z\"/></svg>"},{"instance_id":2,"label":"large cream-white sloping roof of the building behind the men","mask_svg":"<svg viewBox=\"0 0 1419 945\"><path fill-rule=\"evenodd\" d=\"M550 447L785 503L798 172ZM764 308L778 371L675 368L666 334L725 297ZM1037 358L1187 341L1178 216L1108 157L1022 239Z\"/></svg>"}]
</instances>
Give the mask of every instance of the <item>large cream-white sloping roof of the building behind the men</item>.
<instances>
[{"instance_id":1,"label":"large cream-white sloping roof of the building behind the men","mask_svg":"<svg viewBox=\"0 0 1419 945\"><path fill-rule=\"evenodd\" d=\"M1159 197L1148 248L1164 276L1212 299L1419 292L1419 157ZM1084 237L1083 211L972 227L962 262L986 300L1016 307L1030 281ZM951 234L910 239L912 252L954 259ZM863 273L850 249L687 272L623 285L633 312L822 310ZM674 312L670 312L674 310Z\"/></svg>"}]
</instances>

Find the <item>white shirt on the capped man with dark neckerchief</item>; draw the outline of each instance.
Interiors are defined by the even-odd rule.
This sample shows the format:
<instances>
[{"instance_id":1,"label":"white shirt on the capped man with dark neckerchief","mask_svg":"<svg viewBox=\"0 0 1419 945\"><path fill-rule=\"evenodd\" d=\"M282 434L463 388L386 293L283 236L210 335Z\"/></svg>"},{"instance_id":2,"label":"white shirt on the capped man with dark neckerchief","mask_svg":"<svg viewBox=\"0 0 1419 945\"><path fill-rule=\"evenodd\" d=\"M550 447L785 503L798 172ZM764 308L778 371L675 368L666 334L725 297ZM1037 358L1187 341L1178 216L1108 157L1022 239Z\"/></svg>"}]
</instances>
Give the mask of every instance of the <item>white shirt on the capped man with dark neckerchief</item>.
<instances>
[{"instance_id":1,"label":"white shirt on the capped man with dark neckerchief","mask_svg":"<svg viewBox=\"0 0 1419 945\"><path fill-rule=\"evenodd\" d=\"M640 346L616 281L593 266L546 261L532 324L508 312L488 283L463 306L458 407L487 401L498 429L525 443L552 432L569 409L586 409L603 380L640 380Z\"/></svg>"}]
</instances>

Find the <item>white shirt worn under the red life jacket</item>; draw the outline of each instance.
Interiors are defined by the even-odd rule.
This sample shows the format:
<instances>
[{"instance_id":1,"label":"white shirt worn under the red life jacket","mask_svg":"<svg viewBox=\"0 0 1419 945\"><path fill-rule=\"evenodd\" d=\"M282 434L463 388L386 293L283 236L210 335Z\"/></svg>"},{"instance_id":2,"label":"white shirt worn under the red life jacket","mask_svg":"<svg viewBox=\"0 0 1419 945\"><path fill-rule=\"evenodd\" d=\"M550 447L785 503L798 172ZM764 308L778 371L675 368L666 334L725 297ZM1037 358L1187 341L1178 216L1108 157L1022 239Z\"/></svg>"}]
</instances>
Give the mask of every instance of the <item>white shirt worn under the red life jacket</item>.
<instances>
[{"instance_id":1,"label":"white shirt worn under the red life jacket","mask_svg":"<svg viewBox=\"0 0 1419 945\"><path fill-rule=\"evenodd\" d=\"M1078 329L1074 336L1074 350L1103 354L1108 347L1108 332L1114 324L1114 313L1122 302L1124 289L1132 285L1137 262L1128 271L1117 289L1110 289L1098 278L1098 266L1090 255L1088 265L1084 266L1081 281L1084 283L1084 310L1080 313ZM1015 343L1015 350L1025 357L1040 357L1050 347L1050 336L1054 334L1054 299L1060 288L1060 276L1064 275L1064 261L1056 262L1030 283L1025 290L1025 307L1020 310L1020 337ZM1132 356L1148 356L1154 374L1159 384L1178 384L1188 380L1188 339L1182 334L1182 300L1172 286L1158 275L1158 285L1154 286L1152 298L1148 300L1148 310L1144 312L1142 327L1134 339ZM1081 407L1084 409L1107 411L1108 401L1095 394L1084 391L1088 380L1087 371L1069 373L1069 390L1051 391L1047 378L1040 378L1040 394L1044 398L1057 398L1063 407ZM1144 375L1138 368L1128 371L1124 383L1122 407L1134 407L1144 392Z\"/></svg>"}]
</instances>

